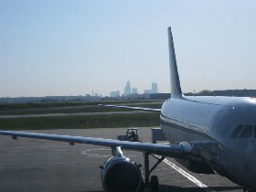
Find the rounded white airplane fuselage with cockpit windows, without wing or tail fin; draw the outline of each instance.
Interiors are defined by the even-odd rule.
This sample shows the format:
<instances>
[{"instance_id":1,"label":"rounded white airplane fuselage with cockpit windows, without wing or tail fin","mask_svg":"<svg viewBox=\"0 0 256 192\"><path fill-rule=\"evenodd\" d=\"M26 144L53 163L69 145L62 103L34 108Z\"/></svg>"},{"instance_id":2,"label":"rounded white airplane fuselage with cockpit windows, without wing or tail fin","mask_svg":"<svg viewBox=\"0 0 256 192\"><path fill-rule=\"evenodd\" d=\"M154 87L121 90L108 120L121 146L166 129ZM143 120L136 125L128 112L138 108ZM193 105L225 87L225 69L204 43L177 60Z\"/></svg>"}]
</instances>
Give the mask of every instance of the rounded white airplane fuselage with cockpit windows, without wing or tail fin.
<instances>
[{"instance_id":1,"label":"rounded white airplane fuselage with cockpit windows, without wing or tail fin","mask_svg":"<svg viewBox=\"0 0 256 192\"><path fill-rule=\"evenodd\" d=\"M256 188L255 100L237 97L171 98L164 102L160 118L161 128L170 143L218 144L218 149L199 147L197 153L220 175L244 187Z\"/></svg>"}]
</instances>

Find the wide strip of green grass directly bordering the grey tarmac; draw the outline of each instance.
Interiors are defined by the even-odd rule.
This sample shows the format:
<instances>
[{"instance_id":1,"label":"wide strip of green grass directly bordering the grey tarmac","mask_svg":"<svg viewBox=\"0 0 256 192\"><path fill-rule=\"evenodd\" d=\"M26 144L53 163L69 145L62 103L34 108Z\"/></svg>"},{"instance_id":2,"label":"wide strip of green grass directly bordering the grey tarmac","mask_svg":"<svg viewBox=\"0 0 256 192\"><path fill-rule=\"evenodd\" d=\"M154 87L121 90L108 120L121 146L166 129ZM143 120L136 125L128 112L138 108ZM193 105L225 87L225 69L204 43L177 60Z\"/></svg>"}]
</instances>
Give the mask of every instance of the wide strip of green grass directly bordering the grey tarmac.
<instances>
[{"instance_id":1,"label":"wide strip of green grass directly bordering the grey tarmac","mask_svg":"<svg viewBox=\"0 0 256 192\"><path fill-rule=\"evenodd\" d=\"M159 114L155 112L0 119L0 129L2 130L87 129L158 125Z\"/></svg>"}]
</instances>

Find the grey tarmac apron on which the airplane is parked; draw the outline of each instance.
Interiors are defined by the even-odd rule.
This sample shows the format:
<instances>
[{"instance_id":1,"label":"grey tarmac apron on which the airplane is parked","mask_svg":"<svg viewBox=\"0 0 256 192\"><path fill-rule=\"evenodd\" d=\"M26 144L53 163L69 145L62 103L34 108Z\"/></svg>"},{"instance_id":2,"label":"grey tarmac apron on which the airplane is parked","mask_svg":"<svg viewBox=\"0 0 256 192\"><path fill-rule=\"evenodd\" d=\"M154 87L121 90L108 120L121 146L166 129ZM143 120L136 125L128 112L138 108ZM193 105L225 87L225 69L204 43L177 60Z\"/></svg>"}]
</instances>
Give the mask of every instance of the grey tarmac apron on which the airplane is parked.
<instances>
[{"instance_id":1,"label":"grey tarmac apron on which the airplane is parked","mask_svg":"<svg viewBox=\"0 0 256 192\"><path fill-rule=\"evenodd\" d=\"M31 132L31 131L30 131ZM38 133L59 133L116 139L123 128L85 130L44 130ZM151 138L150 128L139 128L144 142ZM143 165L142 153L124 151ZM0 191L74 191L100 192L100 167L111 156L107 147L0 136ZM151 158L153 165L155 159ZM143 171L142 167L142 173ZM180 170L183 170L184 173ZM167 158L154 170L164 191L242 191L242 188L219 175L197 175ZM190 179L189 179L190 178ZM195 178L193 180L193 178ZM197 182L195 182L197 181ZM150 191L146 189L145 191Z\"/></svg>"}]
</instances>

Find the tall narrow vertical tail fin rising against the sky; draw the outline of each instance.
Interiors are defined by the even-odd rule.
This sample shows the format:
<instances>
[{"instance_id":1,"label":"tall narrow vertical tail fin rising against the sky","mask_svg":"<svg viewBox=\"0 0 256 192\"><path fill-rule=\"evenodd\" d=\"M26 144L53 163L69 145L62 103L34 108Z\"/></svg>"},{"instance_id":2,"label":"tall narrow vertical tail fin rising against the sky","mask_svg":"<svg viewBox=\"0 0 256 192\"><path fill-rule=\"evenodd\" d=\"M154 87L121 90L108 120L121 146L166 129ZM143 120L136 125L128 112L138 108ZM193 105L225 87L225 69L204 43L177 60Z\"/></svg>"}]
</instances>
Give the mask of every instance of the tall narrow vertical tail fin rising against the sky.
<instances>
[{"instance_id":1,"label":"tall narrow vertical tail fin rising against the sky","mask_svg":"<svg viewBox=\"0 0 256 192\"><path fill-rule=\"evenodd\" d=\"M171 27L168 27L168 43L169 43L169 62L171 75L171 93L172 98L182 98L179 76L176 67L176 52Z\"/></svg>"}]
</instances>

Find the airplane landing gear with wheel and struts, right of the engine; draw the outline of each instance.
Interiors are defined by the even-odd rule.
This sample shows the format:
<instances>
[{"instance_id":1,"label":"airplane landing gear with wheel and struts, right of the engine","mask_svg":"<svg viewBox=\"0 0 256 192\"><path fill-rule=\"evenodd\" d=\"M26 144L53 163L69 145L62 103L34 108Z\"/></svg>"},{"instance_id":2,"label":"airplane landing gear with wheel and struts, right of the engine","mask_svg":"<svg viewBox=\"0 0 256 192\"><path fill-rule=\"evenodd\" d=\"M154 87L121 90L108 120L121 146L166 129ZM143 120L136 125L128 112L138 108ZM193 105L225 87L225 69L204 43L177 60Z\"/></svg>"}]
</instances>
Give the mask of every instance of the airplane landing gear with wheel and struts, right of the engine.
<instances>
[{"instance_id":1,"label":"airplane landing gear with wheel and struts, right of the engine","mask_svg":"<svg viewBox=\"0 0 256 192\"><path fill-rule=\"evenodd\" d=\"M158 192L158 177L157 176L151 176L150 182L149 182L149 177L151 172L156 168L157 165L159 165L164 159L165 156L157 156L157 155L152 155L157 159L157 162L155 165L149 169L149 153L144 153L144 183L146 187L150 187L152 192Z\"/></svg>"}]
</instances>

